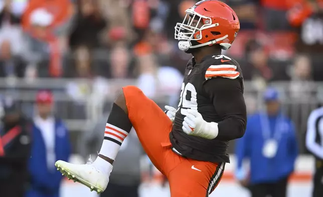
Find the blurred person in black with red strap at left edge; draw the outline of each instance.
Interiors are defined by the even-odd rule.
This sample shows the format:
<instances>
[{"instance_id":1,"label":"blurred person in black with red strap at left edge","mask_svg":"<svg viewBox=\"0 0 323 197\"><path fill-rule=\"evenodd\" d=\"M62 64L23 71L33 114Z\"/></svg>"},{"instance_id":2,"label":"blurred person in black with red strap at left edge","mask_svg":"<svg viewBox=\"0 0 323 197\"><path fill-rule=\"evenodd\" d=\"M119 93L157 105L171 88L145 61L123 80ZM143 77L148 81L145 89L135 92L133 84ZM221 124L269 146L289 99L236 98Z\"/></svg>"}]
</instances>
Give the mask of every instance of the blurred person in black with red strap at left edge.
<instances>
[{"instance_id":1,"label":"blurred person in black with red strap at left edge","mask_svg":"<svg viewBox=\"0 0 323 197\"><path fill-rule=\"evenodd\" d=\"M23 197L28 186L31 124L18 103L8 97L0 102L0 108L4 112L0 117L0 195Z\"/></svg>"}]
</instances>

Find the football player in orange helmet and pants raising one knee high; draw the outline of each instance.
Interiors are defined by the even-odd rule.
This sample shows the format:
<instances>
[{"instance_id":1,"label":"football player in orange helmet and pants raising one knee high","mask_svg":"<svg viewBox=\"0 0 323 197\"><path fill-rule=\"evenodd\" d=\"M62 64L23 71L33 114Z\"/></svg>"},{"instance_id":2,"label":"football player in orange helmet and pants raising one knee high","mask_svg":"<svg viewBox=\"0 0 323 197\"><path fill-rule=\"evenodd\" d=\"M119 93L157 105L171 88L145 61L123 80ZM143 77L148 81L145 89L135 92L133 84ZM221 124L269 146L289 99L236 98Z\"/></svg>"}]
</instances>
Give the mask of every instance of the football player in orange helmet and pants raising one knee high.
<instances>
[{"instance_id":1,"label":"football player in orange helmet and pants raising one knee high","mask_svg":"<svg viewBox=\"0 0 323 197\"><path fill-rule=\"evenodd\" d=\"M246 127L243 77L239 64L221 55L240 29L226 4L204 0L177 23L180 50L188 62L178 109L164 113L135 86L123 87L108 117L97 159L85 165L57 161L57 168L91 190L102 192L123 140L134 127L145 152L169 180L172 197L208 196L218 185L230 140Z\"/></svg>"}]
</instances>

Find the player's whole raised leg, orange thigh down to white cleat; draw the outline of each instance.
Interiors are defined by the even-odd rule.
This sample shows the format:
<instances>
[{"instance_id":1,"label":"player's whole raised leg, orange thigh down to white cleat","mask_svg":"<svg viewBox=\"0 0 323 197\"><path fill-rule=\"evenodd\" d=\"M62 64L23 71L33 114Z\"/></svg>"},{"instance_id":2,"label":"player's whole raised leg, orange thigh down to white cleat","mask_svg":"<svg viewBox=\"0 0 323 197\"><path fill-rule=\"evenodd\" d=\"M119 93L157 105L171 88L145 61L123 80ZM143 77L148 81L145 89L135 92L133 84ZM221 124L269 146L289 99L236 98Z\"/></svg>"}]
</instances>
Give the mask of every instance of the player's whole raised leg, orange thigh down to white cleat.
<instances>
[{"instance_id":1,"label":"player's whole raised leg, orange thigh down to white cleat","mask_svg":"<svg viewBox=\"0 0 323 197\"><path fill-rule=\"evenodd\" d=\"M119 148L134 127L146 153L160 170L164 162L161 143L169 142L172 121L140 89L127 86L115 100L105 127L104 140L97 159L85 165L57 161L57 168L69 178L92 190L105 190ZM159 166L159 167L158 167Z\"/></svg>"}]
</instances>

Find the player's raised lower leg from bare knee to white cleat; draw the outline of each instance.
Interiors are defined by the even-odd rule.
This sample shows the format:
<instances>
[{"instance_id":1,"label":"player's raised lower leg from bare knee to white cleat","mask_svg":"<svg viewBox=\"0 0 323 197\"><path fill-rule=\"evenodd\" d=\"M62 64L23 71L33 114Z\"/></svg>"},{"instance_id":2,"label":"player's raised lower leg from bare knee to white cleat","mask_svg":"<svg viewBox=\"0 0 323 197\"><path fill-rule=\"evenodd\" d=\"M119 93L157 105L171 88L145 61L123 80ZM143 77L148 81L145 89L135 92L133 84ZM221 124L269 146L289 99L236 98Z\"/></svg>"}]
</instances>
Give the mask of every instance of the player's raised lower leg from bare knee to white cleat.
<instances>
[{"instance_id":1,"label":"player's raised lower leg from bare knee to white cleat","mask_svg":"<svg viewBox=\"0 0 323 197\"><path fill-rule=\"evenodd\" d=\"M78 181L98 193L105 190L109 182L113 161L123 140L127 137L132 127L126 112L123 110L125 103L123 102L124 104L122 104L121 97L122 95L118 96L112 106L104 130L104 140L97 159L85 165L71 164L61 160L55 163L58 170L62 172L62 175Z\"/></svg>"}]
</instances>

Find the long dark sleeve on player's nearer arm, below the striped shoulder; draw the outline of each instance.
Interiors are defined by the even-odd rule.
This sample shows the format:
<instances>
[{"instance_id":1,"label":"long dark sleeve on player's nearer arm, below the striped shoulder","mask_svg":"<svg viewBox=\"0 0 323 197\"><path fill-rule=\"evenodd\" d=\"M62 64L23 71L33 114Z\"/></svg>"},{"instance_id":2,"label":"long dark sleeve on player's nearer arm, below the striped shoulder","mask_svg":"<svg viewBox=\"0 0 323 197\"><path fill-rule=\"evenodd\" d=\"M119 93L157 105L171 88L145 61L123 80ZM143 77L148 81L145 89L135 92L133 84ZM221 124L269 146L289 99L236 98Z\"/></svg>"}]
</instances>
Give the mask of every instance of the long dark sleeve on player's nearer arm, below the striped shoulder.
<instances>
[{"instance_id":1,"label":"long dark sleeve on player's nearer arm, below the striped shoulder","mask_svg":"<svg viewBox=\"0 0 323 197\"><path fill-rule=\"evenodd\" d=\"M218 122L219 140L241 138L246 129L247 112L241 79L215 77L205 81L204 91L213 101Z\"/></svg>"}]
</instances>

